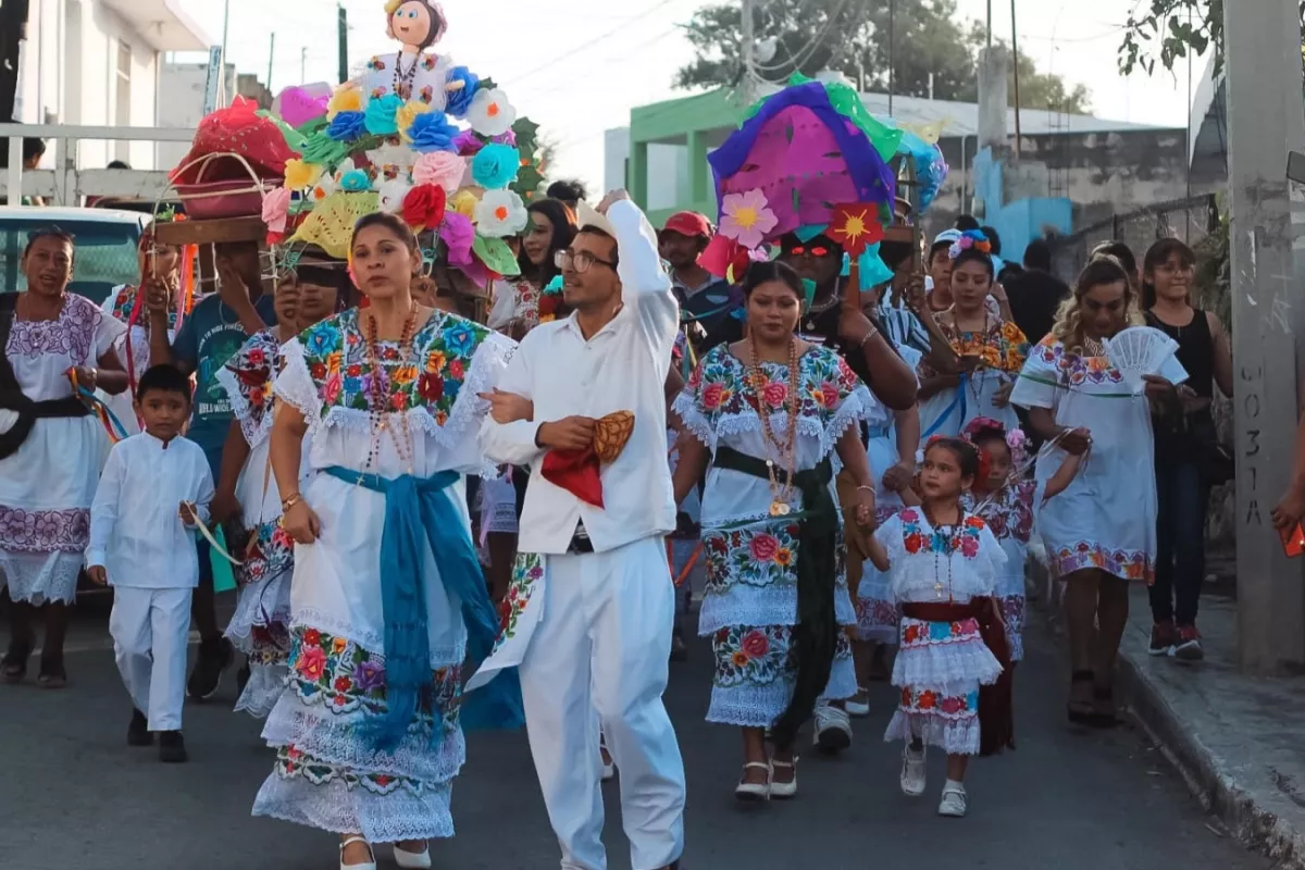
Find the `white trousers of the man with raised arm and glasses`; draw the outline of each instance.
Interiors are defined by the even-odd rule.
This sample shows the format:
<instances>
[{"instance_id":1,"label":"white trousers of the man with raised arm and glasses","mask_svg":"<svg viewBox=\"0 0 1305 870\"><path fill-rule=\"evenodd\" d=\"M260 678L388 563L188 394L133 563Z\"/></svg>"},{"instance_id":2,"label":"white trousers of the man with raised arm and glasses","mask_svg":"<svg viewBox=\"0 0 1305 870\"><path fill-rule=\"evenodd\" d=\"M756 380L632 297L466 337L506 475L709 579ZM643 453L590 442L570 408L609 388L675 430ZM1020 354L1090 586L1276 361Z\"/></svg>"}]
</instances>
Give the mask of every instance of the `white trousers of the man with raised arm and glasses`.
<instances>
[{"instance_id":1,"label":"white trousers of the man with raised arm and glasses","mask_svg":"<svg viewBox=\"0 0 1305 870\"><path fill-rule=\"evenodd\" d=\"M544 616L521 663L521 690L561 866L607 867L594 751L602 725L620 770L630 865L666 867L684 850L684 762L662 704L675 621L666 544L647 537L544 560Z\"/></svg>"}]
</instances>

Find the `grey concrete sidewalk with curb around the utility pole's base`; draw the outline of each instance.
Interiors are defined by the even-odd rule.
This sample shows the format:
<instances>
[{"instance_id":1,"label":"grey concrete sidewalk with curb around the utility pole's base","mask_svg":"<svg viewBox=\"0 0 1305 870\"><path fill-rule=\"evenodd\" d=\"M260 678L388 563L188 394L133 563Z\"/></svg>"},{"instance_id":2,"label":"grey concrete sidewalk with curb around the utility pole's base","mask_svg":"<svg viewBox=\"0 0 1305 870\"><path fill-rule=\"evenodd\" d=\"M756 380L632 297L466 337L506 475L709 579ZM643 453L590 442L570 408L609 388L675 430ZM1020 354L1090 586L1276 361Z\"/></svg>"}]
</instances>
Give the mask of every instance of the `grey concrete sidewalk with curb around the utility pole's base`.
<instances>
[{"instance_id":1,"label":"grey concrete sidewalk with curb around the utility pole's base","mask_svg":"<svg viewBox=\"0 0 1305 870\"><path fill-rule=\"evenodd\" d=\"M1223 591L1227 580L1207 588ZM1147 655L1151 608L1146 588L1134 588L1121 695L1233 836L1280 867L1305 870L1305 677L1237 670L1237 604L1227 595L1202 595L1198 625L1203 663Z\"/></svg>"}]
</instances>

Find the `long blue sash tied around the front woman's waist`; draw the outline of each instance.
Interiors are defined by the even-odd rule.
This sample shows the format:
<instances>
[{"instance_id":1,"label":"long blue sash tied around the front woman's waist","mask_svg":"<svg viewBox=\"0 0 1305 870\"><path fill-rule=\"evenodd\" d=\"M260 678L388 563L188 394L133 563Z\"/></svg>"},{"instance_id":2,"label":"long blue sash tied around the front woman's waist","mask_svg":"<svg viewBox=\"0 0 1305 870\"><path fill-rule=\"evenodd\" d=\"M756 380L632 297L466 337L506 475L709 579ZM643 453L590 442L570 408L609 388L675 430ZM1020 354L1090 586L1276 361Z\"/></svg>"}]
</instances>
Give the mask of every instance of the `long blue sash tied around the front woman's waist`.
<instances>
[{"instance_id":1,"label":"long blue sash tied around the front woman's waist","mask_svg":"<svg viewBox=\"0 0 1305 870\"><path fill-rule=\"evenodd\" d=\"M423 697L429 697L435 686L423 578L424 544L429 541L440 562L444 588L462 603L467 652L474 663L479 664L493 648L499 617L485 591L471 536L448 492L459 477L457 472L441 471L424 480L412 475L389 479L334 466L326 468L326 473L385 496L380 577L388 712L367 723L367 736L381 751L393 751L407 733ZM525 721L515 672L506 678L500 674L472 698L474 704L462 707L462 721L468 728L515 728ZM432 743L438 743L442 733L437 713Z\"/></svg>"}]
</instances>

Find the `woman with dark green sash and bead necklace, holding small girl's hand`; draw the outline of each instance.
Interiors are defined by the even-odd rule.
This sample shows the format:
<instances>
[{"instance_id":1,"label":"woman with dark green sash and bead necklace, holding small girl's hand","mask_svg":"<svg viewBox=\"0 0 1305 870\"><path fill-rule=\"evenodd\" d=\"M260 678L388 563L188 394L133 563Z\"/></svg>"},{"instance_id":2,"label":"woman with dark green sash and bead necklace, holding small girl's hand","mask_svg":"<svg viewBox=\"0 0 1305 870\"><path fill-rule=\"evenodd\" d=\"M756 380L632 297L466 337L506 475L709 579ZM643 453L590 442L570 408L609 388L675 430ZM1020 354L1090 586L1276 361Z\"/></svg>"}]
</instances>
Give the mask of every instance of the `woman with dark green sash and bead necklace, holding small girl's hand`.
<instances>
[{"instance_id":1,"label":"woman with dark green sash and bead necklace, holding small girl's hand","mask_svg":"<svg viewBox=\"0 0 1305 870\"><path fill-rule=\"evenodd\" d=\"M833 466L837 453L857 479L857 522L869 524L859 423L885 416L842 357L793 335L803 286L792 269L754 263L743 292L749 339L707 353L675 402L696 436L681 440L675 493L683 500L706 470L698 633L713 638L716 661L707 720L743 728L735 793L763 800L796 793L792 741L817 699L856 694Z\"/></svg>"}]
</instances>

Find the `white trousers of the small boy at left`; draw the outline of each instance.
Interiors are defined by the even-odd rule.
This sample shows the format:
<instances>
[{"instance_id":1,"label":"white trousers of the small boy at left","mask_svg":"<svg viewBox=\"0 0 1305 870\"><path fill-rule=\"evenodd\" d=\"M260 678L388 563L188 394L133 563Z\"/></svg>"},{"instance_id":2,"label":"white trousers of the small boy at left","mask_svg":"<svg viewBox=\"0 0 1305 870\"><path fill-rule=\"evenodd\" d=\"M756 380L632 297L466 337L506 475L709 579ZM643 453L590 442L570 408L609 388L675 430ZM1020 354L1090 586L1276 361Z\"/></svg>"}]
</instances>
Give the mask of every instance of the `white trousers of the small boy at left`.
<instances>
[{"instance_id":1,"label":"white trousers of the small boy at left","mask_svg":"<svg viewBox=\"0 0 1305 870\"><path fill-rule=\"evenodd\" d=\"M150 730L181 730L193 590L114 587L108 631L123 683Z\"/></svg>"}]
</instances>

